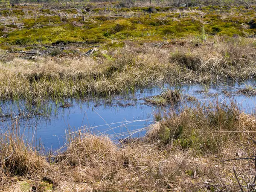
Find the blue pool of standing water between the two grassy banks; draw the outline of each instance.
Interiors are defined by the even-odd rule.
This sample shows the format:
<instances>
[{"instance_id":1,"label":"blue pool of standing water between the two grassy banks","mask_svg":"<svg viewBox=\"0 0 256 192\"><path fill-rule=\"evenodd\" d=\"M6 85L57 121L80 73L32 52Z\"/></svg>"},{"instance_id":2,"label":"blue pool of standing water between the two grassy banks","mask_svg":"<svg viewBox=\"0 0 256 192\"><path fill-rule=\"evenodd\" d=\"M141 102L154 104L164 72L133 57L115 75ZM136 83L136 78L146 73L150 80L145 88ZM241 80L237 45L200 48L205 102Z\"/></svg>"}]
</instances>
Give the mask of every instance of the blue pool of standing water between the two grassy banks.
<instances>
[{"instance_id":1,"label":"blue pool of standing water between the two grassy banks","mask_svg":"<svg viewBox=\"0 0 256 192\"><path fill-rule=\"evenodd\" d=\"M129 136L140 137L146 128L155 122L154 114L178 112L180 107L209 105L211 102L237 102L246 113L255 110L256 96L244 95L239 90L252 87L256 81L229 84L194 84L169 87L151 87L137 90L133 94L104 99L69 100L72 106L61 108L64 102L41 102L41 107L31 108L26 102L1 101L0 131L14 131L24 135L24 139L40 149L55 150L66 141L69 131L91 131L95 134L108 134L114 140ZM145 98L163 93L167 88L180 89L183 99L177 104L156 106ZM39 150L39 148L38 148Z\"/></svg>"}]
</instances>

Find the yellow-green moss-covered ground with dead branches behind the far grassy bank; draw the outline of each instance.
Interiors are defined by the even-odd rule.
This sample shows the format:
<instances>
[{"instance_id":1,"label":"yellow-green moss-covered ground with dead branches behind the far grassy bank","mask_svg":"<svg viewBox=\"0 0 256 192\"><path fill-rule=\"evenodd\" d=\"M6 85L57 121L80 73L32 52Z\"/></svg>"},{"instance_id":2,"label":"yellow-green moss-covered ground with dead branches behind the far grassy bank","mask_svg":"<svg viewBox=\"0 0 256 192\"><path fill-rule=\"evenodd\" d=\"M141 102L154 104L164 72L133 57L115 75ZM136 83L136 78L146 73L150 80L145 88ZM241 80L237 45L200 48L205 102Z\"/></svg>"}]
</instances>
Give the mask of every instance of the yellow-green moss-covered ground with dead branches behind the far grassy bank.
<instances>
[{"instance_id":1,"label":"yellow-green moss-covered ground with dead branches behind the far grassy bank","mask_svg":"<svg viewBox=\"0 0 256 192\"><path fill-rule=\"evenodd\" d=\"M114 4L46 6L32 4L2 8L0 48L10 52L44 50L44 45L75 44L108 47L118 41L163 41L206 35L251 37L256 13L245 7L131 7ZM110 7L108 9L108 7ZM84 17L84 19L83 19ZM86 47L88 48L88 46Z\"/></svg>"}]
</instances>

